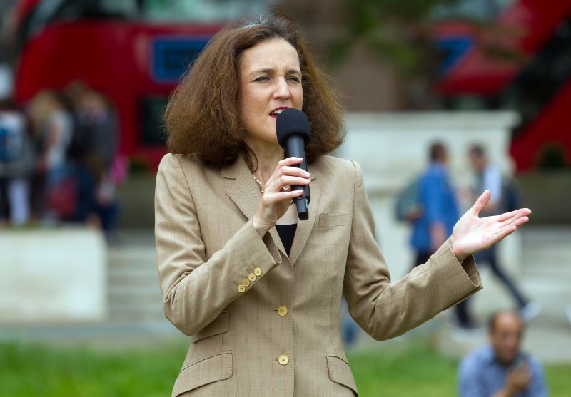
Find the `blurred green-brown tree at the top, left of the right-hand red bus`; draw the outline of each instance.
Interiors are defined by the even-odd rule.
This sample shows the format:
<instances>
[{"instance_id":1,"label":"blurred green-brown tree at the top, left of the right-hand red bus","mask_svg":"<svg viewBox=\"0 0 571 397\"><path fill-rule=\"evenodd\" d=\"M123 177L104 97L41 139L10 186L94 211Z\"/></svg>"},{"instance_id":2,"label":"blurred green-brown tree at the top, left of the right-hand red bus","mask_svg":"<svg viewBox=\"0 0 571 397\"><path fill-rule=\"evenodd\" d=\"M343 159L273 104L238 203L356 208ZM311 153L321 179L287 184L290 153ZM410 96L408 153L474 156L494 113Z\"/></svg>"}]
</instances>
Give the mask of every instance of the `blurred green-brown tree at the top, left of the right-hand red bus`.
<instances>
[{"instance_id":1,"label":"blurred green-brown tree at the top, left of the right-hand red bus","mask_svg":"<svg viewBox=\"0 0 571 397\"><path fill-rule=\"evenodd\" d=\"M440 66L446 54L435 46L433 28L443 20L464 21L479 32L483 51L490 57L521 61L518 54L502 46L507 28L497 26L495 17L506 0L348 0L343 7L346 27L330 43L328 62L338 66L352 48L363 45L386 59L404 77L406 108L440 108L435 92Z\"/></svg>"}]
</instances>

